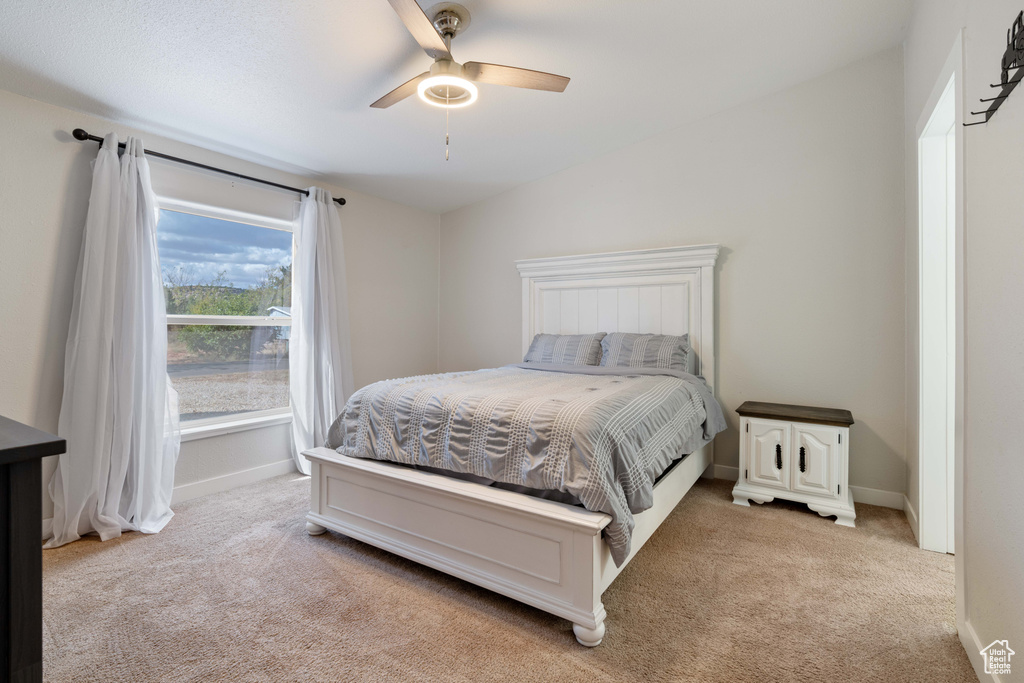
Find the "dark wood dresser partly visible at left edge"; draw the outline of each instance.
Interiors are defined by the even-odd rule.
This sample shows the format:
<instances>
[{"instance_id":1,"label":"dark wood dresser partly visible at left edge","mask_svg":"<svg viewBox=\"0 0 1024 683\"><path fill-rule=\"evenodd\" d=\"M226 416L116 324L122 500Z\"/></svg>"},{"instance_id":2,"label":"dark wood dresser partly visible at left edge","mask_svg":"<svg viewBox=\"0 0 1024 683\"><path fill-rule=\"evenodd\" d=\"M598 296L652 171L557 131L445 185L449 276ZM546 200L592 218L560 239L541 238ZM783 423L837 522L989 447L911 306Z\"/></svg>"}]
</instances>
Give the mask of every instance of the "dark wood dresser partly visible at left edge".
<instances>
[{"instance_id":1,"label":"dark wood dresser partly visible at left edge","mask_svg":"<svg viewBox=\"0 0 1024 683\"><path fill-rule=\"evenodd\" d=\"M0 417L0 681L43 680L42 458L65 440Z\"/></svg>"}]
</instances>

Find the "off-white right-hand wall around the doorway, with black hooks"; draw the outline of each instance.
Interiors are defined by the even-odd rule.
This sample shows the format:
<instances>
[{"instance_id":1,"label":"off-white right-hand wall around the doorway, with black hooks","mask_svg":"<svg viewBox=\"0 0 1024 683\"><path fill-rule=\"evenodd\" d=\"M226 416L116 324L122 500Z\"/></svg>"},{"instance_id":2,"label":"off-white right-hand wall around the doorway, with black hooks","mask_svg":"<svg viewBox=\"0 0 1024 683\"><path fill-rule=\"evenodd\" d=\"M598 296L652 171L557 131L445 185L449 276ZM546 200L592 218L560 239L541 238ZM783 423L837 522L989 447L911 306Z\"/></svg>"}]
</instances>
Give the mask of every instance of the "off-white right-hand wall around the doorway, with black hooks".
<instances>
[{"instance_id":1,"label":"off-white right-hand wall around the doorway, with black hooks","mask_svg":"<svg viewBox=\"0 0 1024 683\"><path fill-rule=\"evenodd\" d=\"M1012 0L929 0L915 6L906 40L907 369L916 356L915 128L956 34L964 29L965 109L980 111L999 78L1006 31L1020 11ZM974 120L975 117L968 117ZM1024 92L1019 88L984 126L965 131L964 544L966 628L961 637L981 674L978 647L1024 643L1024 513L1020 426L1024 411ZM916 417L916 374L908 372L907 414ZM916 427L908 430L916 482ZM915 495L914 492L908 492ZM1017 667L1015 657L1014 668ZM1018 673L1019 676L1019 673Z\"/></svg>"}]
</instances>

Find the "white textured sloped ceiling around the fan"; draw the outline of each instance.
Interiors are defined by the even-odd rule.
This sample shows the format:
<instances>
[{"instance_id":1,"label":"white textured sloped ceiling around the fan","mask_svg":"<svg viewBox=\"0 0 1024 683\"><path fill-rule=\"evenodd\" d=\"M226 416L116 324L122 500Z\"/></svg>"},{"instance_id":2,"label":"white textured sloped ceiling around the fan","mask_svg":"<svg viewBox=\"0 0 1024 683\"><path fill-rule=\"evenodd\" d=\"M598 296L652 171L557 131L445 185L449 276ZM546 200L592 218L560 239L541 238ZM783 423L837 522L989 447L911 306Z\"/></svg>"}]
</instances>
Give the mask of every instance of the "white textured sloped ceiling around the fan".
<instances>
[{"instance_id":1,"label":"white textured sloped ceiling around the fan","mask_svg":"<svg viewBox=\"0 0 1024 683\"><path fill-rule=\"evenodd\" d=\"M462 4L456 59L572 81L481 85L447 163L442 110L369 106L431 61L386 0L0 0L0 88L444 212L896 45L911 0Z\"/></svg>"}]
</instances>

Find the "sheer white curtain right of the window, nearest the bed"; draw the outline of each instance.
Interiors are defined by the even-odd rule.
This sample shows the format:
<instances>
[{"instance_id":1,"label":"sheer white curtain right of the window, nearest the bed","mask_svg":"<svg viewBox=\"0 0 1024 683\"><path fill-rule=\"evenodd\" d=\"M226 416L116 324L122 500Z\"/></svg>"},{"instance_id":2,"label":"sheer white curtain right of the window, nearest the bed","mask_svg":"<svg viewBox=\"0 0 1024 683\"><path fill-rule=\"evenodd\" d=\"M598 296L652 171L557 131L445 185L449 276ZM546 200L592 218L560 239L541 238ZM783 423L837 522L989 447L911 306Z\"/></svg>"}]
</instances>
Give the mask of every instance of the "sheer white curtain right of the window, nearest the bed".
<instances>
[{"instance_id":1,"label":"sheer white curtain right of the window, nearest the bed","mask_svg":"<svg viewBox=\"0 0 1024 683\"><path fill-rule=\"evenodd\" d=\"M295 228L289 346L292 455L303 474L309 474L309 461L302 452L324 445L352 393L343 254L334 199L326 189L310 187Z\"/></svg>"}]
</instances>

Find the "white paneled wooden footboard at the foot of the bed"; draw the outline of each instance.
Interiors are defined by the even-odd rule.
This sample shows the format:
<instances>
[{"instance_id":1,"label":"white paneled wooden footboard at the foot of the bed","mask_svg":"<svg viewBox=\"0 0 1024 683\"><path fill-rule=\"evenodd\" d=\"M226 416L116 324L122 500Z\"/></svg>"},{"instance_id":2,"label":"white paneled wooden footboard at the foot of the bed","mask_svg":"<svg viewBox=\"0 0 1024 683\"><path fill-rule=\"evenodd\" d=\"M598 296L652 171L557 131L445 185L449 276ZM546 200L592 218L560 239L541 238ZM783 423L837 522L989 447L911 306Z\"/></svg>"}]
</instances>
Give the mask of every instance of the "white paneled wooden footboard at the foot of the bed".
<instances>
[{"instance_id":1,"label":"white paneled wooden footboard at the foot of the bed","mask_svg":"<svg viewBox=\"0 0 1024 683\"><path fill-rule=\"evenodd\" d=\"M340 531L567 618L585 645L601 642L608 515L329 449L304 455L310 533Z\"/></svg>"}]
</instances>

